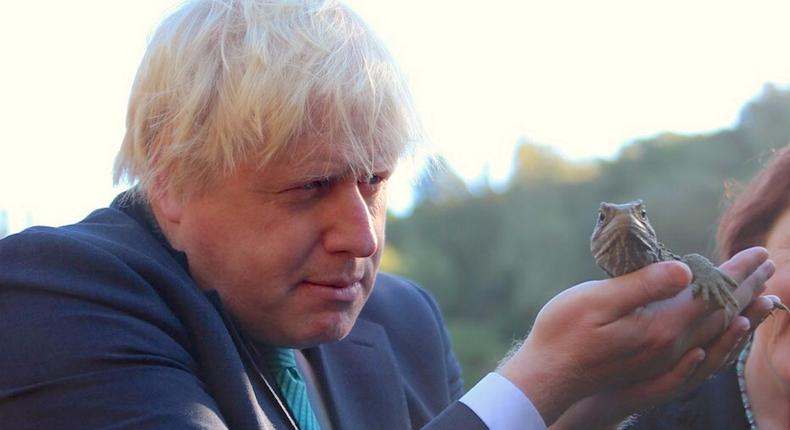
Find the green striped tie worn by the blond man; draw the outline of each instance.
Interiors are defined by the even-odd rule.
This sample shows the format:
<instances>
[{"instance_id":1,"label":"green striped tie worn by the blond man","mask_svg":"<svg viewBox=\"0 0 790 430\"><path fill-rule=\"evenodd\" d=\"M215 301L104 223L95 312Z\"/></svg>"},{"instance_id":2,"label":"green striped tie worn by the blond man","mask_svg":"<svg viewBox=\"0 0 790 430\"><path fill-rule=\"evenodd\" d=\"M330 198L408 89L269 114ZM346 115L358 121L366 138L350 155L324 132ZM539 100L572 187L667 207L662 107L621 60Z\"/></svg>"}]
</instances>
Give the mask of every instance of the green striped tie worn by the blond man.
<instances>
[{"instance_id":1,"label":"green striped tie worn by the blond man","mask_svg":"<svg viewBox=\"0 0 790 430\"><path fill-rule=\"evenodd\" d=\"M310 399L307 397L307 387L296 369L293 349L265 348L262 352L266 365L277 381L277 386L280 387L280 392L285 397L285 402L288 403L299 429L321 430L310 406Z\"/></svg>"}]
</instances>

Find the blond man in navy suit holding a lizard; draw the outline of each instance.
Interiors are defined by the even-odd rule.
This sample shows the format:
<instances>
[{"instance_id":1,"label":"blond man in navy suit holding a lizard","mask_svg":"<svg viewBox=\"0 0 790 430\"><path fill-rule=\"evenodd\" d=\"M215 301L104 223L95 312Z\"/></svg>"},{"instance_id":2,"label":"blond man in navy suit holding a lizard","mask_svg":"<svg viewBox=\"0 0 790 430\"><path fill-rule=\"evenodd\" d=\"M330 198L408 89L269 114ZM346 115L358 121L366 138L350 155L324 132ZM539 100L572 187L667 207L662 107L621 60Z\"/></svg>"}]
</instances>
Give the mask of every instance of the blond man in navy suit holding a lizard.
<instances>
[{"instance_id":1,"label":"blond man in navy suit holding a lizard","mask_svg":"<svg viewBox=\"0 0 790 430\"><path fill-rule=\"evenodd\" d=\"M410 106L344 5L183 5L132 89L133 188L0 242L2 427L595 428L703 380L771 308L759 248L722 266L728 324L681 263L584 283L464 394L433 299L378 272Z\"/></svg>"}]
</instances>

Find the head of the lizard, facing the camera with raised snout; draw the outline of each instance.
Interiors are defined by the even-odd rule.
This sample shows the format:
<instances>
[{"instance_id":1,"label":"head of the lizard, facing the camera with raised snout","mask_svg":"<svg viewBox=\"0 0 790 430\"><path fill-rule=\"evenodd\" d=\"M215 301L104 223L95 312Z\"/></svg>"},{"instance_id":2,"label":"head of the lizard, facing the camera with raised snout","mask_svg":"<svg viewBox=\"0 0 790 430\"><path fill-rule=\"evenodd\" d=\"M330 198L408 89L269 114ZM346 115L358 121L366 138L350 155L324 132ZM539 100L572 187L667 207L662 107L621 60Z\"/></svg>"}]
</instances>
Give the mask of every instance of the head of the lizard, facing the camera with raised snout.
<instances>
[{"instance_id":1,"label":"head of the lizard, facing the camera with raised snout","mask_svg":"<svg viewBox=\"0 0 790 430\"><path fill-rule=\"evenodd\" d=\"M590 238L595 262L609 276L633 272L659 261L660 245L641 200L601 203Z\"/></svg>"}]
</instances>

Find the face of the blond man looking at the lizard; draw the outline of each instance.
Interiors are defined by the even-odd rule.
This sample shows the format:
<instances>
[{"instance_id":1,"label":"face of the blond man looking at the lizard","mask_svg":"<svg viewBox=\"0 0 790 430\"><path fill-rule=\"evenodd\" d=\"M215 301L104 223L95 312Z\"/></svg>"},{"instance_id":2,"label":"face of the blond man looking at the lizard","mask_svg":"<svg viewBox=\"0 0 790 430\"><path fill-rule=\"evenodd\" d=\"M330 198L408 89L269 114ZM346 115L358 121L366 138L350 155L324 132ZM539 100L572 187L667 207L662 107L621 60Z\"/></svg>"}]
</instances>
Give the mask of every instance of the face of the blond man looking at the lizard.
<instances>
[{"instance_id":1,"label":"face of the blond man looking at the lizard","mask_svg":"<svg viewBox=\"0 0 790 430\"><path fill-rule=\"evenodd\" d=\"M304 138L263 170L244 165L179 203L165 229L198 285L258 341L341 339L373 288L392 166L354 177L332 149Z\"/></svg>"}]
</instances>

